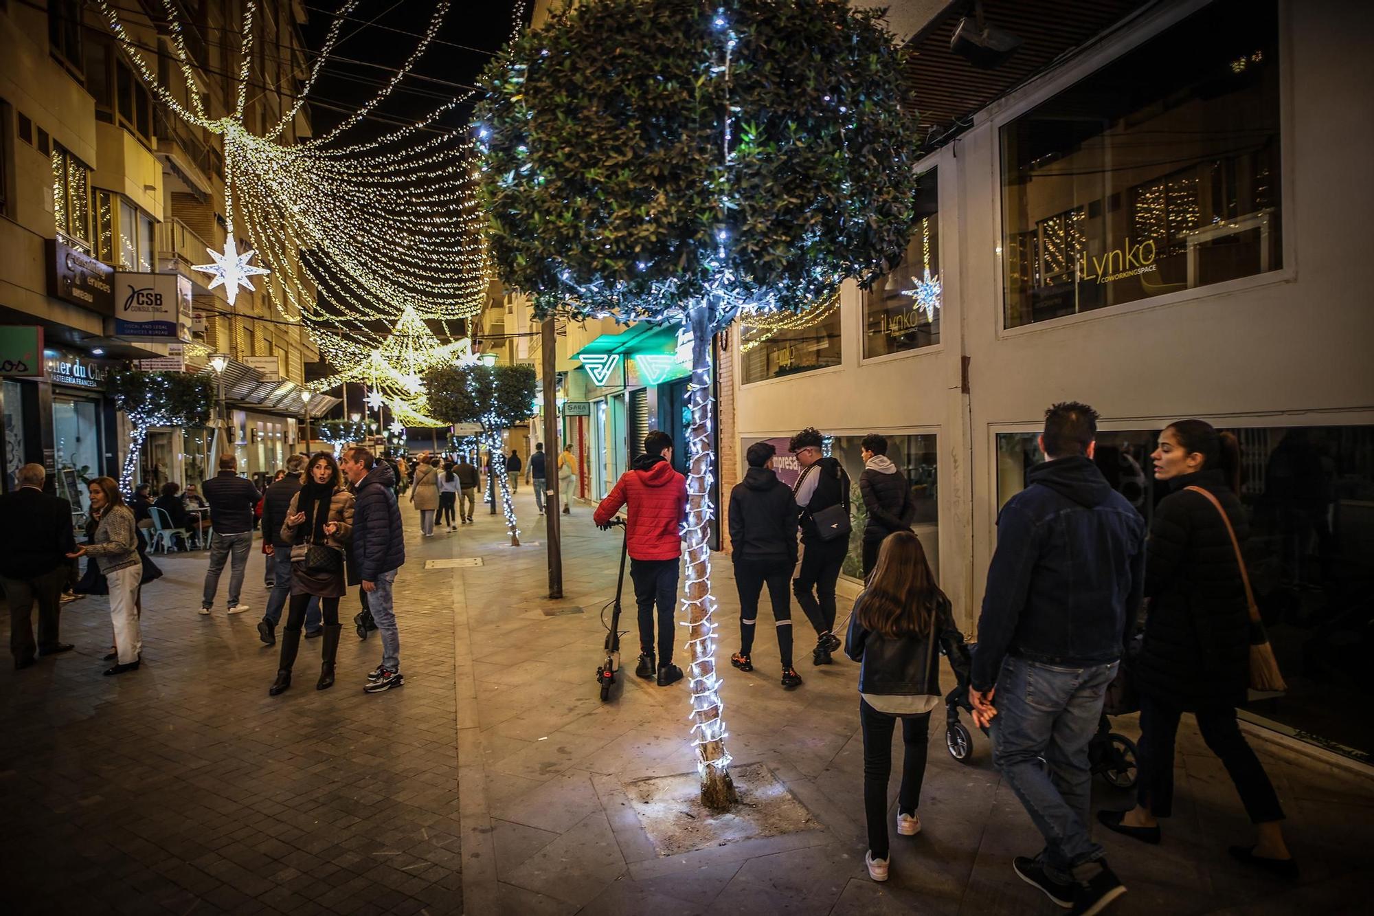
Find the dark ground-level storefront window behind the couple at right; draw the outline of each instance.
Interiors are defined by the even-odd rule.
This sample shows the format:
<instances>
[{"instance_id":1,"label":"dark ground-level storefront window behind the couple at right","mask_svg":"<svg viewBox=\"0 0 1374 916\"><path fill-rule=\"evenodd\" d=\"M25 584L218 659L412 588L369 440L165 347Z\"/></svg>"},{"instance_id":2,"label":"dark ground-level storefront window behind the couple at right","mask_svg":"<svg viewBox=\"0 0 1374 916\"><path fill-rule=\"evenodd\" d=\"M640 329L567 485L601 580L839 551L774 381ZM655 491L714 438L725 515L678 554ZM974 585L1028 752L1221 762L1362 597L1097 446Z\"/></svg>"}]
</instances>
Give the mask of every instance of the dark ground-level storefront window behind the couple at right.
<instances>
[{"instance_id":1,"label":"dark ground-level storefront window behind the couple at right","mask_svg":"<svg viewBox=\"0 0 1374 916\"><path fill-rule=\"evenodd\" d=\"M1252 695L1243 714L1338 752L1370 759L1374 700L1364 677L1374 634L1374 426L1232 430L1241 441L1245 564L1289 692ZM1147 521L1167 494L1150 472L1158 430L1099 432L1096 464ZM1044 457L1036 433L998 436L998 505ZM1340 704L1331 703L1341 696Z\"/></svg>"}]
</instances>

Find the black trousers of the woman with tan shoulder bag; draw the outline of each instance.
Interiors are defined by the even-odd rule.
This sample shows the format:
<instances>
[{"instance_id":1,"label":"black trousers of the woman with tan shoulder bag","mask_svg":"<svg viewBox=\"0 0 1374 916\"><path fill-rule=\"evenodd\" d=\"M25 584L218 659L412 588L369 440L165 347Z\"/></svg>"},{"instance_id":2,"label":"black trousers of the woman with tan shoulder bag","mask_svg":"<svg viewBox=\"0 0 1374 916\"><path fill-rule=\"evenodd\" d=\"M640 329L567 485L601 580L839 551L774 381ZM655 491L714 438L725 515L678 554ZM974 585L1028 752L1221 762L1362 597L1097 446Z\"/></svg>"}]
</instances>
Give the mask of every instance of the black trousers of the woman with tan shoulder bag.
<instances>
[{"instance_id":1,"label":"black trousers of the woman with tan shoulder bag","mask_svg":"<svg viewBox=\"0 0 1374 916\"><path fill-rule=\"evenodd\" d=\"M1135 791L1136 802L1150 809L1156 817L1169 817L1173 813L1173 741L1179 732L1180 715L1183 715L1180 710L1140 695L1140 740L1136 743L1139 780ZM1250 822L1282 821L1283 809L1274 792L1274 784L1270 783L1260 758L1254 756L1254 751L1241 734L1235 708L1198 710L1194 715L1208 750L1221 758L1226 772L1231 774Z\"/></svg>"}]
</instances>

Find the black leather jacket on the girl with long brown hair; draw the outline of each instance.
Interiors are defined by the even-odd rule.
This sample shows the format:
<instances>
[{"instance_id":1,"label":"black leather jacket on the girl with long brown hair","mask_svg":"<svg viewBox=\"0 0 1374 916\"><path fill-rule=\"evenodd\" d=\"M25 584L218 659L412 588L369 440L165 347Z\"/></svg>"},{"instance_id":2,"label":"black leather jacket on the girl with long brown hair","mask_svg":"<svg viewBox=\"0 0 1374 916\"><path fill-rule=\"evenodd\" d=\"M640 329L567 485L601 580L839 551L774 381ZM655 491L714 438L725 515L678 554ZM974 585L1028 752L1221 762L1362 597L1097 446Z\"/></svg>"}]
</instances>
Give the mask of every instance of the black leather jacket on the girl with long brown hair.
<instances>
[{"instance_id":1,"label":"black leather jacket on the girl with long brown hair","mask_svg":"<svg viewBox=\"0 0 1374 916\"><path fill-rule=\"evenodd\" d=\"M896 640L881 633L866 630L859 623L859 605L863 596L855 601L849 615L849 634L845 638L845 655L861 662L859 670L859 692L899 696L940 696L940 660L930 645L930 635L904 635ZM936 638L949 656L959 684L969 682L969 646L963 634L954 623L949 601L941 600L936 608Z\"/></svg>"}]
</instances>

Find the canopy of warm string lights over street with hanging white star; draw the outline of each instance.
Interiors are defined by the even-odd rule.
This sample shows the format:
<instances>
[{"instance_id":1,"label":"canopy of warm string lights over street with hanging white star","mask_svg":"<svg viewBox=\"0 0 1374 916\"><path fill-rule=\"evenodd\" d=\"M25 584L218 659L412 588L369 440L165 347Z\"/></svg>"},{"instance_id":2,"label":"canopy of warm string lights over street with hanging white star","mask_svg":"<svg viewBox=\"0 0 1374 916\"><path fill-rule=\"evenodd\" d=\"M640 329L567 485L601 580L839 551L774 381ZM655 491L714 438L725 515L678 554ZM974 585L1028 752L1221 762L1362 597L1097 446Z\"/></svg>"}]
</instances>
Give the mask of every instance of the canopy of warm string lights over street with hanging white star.
<instances>
[{"instance_id":1,"label":"canopy of warm string lights over street with hanging white star","mask_svg":"<svg viewBox=\"0 0 1374 916\"><path fill-rule=\"evenodd\" d=\"M427 320L452 337L451 322L477 315L486 298L491 264L485 215L475 194L477 165L467 132L437 122L471 92L444 100L412 124L371 140L342 143L409 76L434 43L451 8L440 0L407 61L357 110L323 136L289 143L282 138L309 102L341 23L359 0L344 0L294 103L262 133L245 124L247 87L260 19L258 0L246 0L239 30L238 85L229 111L214 117L201 92L183 103L144 58L111 0L98 0L111 33L158 100L187 124L221 138L224 221L221 249L194 270L224 287L232 307L240 292L260 293L283 319L300 322L333 366L348 367L313 382L327 391L348 377L381 392L396 421L437 425L426 415L423 369L453 359ZM517 0L511 37L523 25L526 0ZM198 85L181 14L162 0L176 65L188 87ZM433 136L423 136L431 132ZM422 139L423 138L423 139ZM392 341L401 340L398 348Z\"/></svg>"}]
</instances>

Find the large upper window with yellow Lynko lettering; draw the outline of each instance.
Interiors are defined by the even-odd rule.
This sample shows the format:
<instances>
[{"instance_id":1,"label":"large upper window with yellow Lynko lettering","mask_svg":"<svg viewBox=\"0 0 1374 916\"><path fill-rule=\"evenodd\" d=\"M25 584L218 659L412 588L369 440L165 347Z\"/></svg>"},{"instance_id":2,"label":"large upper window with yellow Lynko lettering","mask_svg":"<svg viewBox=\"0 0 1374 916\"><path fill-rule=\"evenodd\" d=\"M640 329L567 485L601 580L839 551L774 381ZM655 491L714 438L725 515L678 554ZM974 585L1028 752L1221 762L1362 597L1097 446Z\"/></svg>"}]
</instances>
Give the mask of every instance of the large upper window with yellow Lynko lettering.
<instances>
[{"instance_id":1,"label":"large upper window with yellow Lynko lettering","mask_svg":"<svg viewBox=\"0 0 1374 916\"><path fill-rule=\"evenodd\" d=\"M1002 128L1006 326L1282 267L1274 0L1217 0Z\"/></svg>"}]
</instances>

